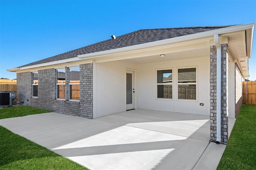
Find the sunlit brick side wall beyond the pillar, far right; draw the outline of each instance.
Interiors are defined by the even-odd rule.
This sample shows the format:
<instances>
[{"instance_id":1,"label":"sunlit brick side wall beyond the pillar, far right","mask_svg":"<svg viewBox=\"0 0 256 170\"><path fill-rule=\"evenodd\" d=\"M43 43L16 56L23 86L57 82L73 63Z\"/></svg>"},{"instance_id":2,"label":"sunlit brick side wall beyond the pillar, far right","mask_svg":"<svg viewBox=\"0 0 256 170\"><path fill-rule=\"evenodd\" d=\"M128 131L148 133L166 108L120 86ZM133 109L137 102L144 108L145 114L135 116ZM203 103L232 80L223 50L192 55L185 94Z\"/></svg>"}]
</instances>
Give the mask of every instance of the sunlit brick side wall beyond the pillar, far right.
<instances>
[{"instance_id":1,"label":"sunlit brick side wall beyond the pillar, far right","mask_svg":"<svg viewBox=\"0 0 256 170\"><path fill-rule=\"evenodd\" d=\"M237 117L243 103L243 76L237 63L235 63L235 117Z\"/></svg>"}]
</instances>

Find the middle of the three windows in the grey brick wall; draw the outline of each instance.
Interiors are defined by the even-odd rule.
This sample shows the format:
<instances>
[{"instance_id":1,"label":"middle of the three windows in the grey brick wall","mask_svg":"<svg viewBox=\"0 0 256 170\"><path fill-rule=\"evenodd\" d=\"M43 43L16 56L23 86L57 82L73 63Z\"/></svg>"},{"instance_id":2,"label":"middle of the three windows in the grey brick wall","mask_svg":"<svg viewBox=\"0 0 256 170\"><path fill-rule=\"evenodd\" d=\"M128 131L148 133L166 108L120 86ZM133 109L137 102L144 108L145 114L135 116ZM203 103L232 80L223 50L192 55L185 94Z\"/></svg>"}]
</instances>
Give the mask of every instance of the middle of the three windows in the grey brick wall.
<instances>
[{"instance_id":1,"label":"middle of the three windows in the grey brick wall","mask_svg":"<svg viewBox=\"0 0 256 170\"><path fill-rule=\"evenodd\" d=\"M62 69L57 69L57 80L56 80L56 98L57 99L65 99L65 90L66 90L66 86L65 86L65 68Z\"/></svg>"}]
</instances>

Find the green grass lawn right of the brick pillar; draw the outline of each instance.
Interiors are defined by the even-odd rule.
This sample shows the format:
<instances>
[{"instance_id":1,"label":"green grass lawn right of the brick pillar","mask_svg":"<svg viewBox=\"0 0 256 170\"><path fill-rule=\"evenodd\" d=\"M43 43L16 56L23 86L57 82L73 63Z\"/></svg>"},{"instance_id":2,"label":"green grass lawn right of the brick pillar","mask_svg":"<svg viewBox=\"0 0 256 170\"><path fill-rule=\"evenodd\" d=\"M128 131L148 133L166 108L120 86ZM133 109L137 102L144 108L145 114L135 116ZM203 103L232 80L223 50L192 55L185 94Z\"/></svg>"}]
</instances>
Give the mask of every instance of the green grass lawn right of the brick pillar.
<instances>
[{"instance_id":1,"label":"green grass lawn right of the brick pillar","mask_svg":"<svg viewBox=\"0 0 256 170\"><path fill-rule=\"evenodd\" d=\"M218 170L256 170L256 106L242 105Z\"/></svg>"}]
</instances>

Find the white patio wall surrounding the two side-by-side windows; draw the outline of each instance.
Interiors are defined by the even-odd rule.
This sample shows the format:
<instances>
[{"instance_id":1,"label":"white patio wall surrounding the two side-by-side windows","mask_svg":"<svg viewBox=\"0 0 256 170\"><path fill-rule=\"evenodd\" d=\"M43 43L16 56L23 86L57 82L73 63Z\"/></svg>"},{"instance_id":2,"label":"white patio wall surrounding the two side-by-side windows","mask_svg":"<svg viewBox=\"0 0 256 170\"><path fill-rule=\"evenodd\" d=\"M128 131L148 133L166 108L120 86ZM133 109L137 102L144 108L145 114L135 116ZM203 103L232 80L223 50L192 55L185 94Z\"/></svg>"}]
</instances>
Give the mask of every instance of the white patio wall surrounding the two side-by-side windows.
<instances>
[{"instance_id":1,"label":"white patio wall surrounding the two side-by-side windows","mask_svg":"<svg viewBox=\"0 0 256 170\"><path fill-rule=\"evenodd\" d=\"M138 108L162 111L176 111L209 115L210 113L210 61L209 57L139 64ZM197 100L178 100L177 72L178 67L197 67ZM172 68L173 99L156 98L156 69ZM203 103L204 106L200 106Z\"/></svg>"}]
</instances>

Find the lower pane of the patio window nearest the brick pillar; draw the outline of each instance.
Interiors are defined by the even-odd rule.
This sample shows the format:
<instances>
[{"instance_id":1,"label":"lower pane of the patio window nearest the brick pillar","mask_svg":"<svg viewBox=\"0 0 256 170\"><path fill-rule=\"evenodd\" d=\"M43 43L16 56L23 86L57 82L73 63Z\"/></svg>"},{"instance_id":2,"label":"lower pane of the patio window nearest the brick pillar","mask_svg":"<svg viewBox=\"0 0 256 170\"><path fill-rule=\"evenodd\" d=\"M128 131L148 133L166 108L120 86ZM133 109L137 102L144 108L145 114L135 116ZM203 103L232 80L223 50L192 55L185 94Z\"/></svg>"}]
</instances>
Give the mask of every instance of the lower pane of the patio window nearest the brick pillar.
<instances>
[{"instance_id":1,"label":"lower pane of the patio window nearest the brick pillar","mask_svg":"<svg viewBox=\"0 0 256 170\"><path fill-rule=\"evenodd\" d=\"M178 85L178 99L196 100L196 84Z\"/></svg>"}]
</instances>

